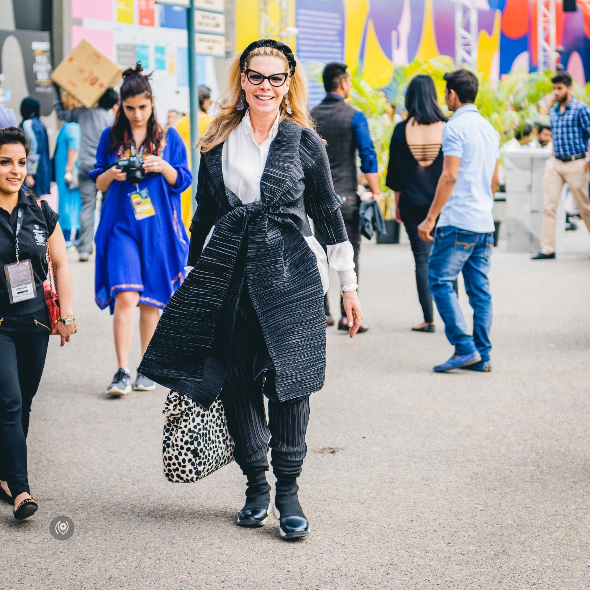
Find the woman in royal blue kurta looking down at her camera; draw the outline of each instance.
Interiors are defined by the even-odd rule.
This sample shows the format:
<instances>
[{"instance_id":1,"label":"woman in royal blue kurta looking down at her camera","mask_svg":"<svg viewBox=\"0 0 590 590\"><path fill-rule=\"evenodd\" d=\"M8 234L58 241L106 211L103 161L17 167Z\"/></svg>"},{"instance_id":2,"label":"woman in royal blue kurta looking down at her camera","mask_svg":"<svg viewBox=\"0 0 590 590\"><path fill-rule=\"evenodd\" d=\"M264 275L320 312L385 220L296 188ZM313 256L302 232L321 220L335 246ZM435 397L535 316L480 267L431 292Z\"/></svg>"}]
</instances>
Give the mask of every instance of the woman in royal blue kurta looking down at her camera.
<instances>
[{"instance_id":1,"label":"woman in royal blue kurta looking down at her camera","mask_svg":"<svg viewBox=\"0 0 590 590\"><path fill-rule=\"evenodd\" d=\"M145 178L131 182L117 167L129 156L145 159ZM186 148L175 129L164 136L153 110L149 77L137 64L123 72L120 109L112 127L104 130L89 173L104 201L96 244L96 303L110 307L119 369L107 388L109 395L131 391L129 353L135 307L139 305L142 353L164 309L182 283L188 237L181 217L181 193L191 185ZM141 373L137 391L155 383Z\"/></svg>"}]
</instances>

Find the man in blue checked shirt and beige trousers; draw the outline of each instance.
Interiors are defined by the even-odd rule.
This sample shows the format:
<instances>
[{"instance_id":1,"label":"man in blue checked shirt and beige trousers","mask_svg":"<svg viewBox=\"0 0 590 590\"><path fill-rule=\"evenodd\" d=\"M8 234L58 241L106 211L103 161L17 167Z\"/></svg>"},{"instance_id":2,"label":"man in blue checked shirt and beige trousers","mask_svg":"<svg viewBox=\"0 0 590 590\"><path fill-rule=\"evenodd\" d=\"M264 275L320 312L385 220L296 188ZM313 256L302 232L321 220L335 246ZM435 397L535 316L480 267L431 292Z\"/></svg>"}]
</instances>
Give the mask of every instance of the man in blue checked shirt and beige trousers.
<instances>
[{"instance_id":1,"label":"man in blue checked shirt and beige trousers","mask_svg":"<svg viewBox=\"0 0 590 590\"><path fill-rule=\"evenodd\" d=\"M553 133L553 155L543 176L543 228L541 251L533 260L555 258L555 214L563 183L567 182L578 211L590 231L588 160L590 107L572 96L572 77L560 71L551 80L557 104L549 110Z\"/></svg>"}]
</instances>

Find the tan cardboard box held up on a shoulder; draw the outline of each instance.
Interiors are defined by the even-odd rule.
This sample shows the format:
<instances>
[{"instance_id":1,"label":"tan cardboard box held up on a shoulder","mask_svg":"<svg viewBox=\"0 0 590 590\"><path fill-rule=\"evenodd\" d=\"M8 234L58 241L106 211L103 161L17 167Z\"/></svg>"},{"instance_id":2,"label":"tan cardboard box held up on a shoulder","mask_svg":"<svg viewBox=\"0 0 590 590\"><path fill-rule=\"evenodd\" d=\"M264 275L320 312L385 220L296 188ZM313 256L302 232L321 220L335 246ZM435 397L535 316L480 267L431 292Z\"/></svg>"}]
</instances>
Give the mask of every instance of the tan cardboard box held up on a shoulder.
<instances>
[{"instance_id":1,"label":"tan cardboard box held up on a shoulder","mask_svg":"<svg viewBox=\"0 0 590 590\"><path fill-rule=\"evenodd\" d=\"M55 68L51 80L91 109L104 91L119 84L122 71L119 64L83 39Z\"/></svg>"}]
</instances>

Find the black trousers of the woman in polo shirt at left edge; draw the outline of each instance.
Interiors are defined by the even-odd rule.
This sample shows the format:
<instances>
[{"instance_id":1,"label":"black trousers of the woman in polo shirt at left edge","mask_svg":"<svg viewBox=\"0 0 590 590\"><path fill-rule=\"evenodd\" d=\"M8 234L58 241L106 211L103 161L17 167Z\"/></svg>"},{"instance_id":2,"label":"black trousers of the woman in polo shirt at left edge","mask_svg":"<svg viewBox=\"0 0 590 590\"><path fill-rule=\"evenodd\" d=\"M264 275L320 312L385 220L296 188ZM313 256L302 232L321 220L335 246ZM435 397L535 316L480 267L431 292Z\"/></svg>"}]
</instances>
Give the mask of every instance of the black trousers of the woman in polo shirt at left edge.
<instances>
[{"instance_id":1,"label":"black trousers of the woman in polo shirt at left edge","mask_svg":"<svg viewBox=\"0 0 590 590\"><path fill-rule=\"evenodd\" d=\"M30 492L27 433L49 342L47 307L22 316L0 314L0 479L12 497Z\"/></svg>"}]
</instances>

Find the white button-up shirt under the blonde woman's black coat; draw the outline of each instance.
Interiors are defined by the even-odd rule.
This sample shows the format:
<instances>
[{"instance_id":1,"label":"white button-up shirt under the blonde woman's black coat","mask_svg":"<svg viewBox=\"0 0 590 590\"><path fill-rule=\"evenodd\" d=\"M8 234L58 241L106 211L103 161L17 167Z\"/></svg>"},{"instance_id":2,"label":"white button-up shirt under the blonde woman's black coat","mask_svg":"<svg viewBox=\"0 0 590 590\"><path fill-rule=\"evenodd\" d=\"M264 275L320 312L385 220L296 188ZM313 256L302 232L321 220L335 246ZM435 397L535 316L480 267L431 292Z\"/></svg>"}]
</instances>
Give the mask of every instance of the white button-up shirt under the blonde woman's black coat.
<instances>
[{"instance_id":1,"label":"white button-up shirt under the blonde woman's black coat","mask_svg":"<svg viewBox=\"0 0 590 590\"><path fill-rule=\"evenodd\" d=\"M250 123L248 109L241 123L224 143L221 155L224 183L242 203L260 200L260 178L266 166L268 149L278 132L279 120L280 111L277 113L267 139L258 145L254 140L254 130ZM352 244L348 240L340 244L328 245L326 257L322 246L313 235L304 236L304 238L316 257L324 293L329 286L328 263L337 271L344 291L353 291L357 288L354 253Z\"/></svg>"}]
</instances>

